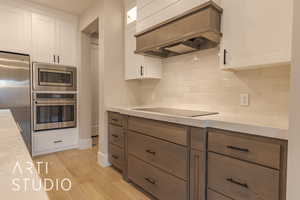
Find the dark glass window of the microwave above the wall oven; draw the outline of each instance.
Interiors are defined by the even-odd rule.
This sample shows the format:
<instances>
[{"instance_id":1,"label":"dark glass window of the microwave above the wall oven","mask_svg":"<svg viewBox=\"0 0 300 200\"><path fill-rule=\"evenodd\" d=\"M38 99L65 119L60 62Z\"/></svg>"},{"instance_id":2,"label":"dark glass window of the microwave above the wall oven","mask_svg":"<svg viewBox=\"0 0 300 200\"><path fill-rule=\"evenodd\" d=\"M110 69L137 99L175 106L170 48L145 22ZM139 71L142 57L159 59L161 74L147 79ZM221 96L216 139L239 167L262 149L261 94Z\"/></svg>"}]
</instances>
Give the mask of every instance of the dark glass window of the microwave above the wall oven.
<instances>
[{"instance_id":1,"label":"dark glass window of the microwave above the wall oven","mask_svg":"<svg viewBox=\"0 0 300 200\"><path fill-rule=\"evenodd\" d=\"M72 72L59 72L59 71L39 71L40 85L72 85Z\"/></svg>"}]
</instances>

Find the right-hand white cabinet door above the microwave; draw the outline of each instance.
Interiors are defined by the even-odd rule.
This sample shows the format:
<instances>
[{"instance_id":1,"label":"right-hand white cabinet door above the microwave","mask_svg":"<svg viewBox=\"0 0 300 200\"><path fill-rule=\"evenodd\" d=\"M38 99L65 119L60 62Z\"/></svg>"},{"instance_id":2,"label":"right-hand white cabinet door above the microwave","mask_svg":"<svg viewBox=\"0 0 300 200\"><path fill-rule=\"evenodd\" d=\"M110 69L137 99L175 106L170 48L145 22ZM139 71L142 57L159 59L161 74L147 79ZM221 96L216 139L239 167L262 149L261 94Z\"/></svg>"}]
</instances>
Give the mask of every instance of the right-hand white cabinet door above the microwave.
<instances>
[{"instance_id":1,"label":"right-hand white cabinet door above the microwave","mask_svg":"<svg viewBox=\"0 0 300 200\"><path fill-rule=\"evenodd\" d=\"M58 63L61 65L76 65L77 34L76 24L69 21L56 21L56 54L59 56Z\"/></svg>"}]
</instances>

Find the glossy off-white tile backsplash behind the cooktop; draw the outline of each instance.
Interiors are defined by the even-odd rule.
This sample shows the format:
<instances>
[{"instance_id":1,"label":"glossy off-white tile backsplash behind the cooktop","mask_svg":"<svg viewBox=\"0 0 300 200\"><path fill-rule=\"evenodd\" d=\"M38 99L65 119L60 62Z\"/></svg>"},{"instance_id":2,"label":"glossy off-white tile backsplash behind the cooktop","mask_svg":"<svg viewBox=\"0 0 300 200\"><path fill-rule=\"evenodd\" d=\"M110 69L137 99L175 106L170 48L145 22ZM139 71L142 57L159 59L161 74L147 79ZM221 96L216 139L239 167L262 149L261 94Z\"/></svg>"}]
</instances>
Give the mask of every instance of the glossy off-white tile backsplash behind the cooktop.
<instances>
[{"instance_id":1,"label":"glossy off-white tile backsplash behind the cooktop","mask_svg":"<svg viewBox=\"0 0 300 200\"><path fill-rule=\"evenodd\" d=\"M197 57L197 59L194 59ZM290 66L222 71L218 49L165 59L163 79L142 81L142 105L288 116ZM240 94L251 96L240 106Z\"/></svg>"}]
</instances>

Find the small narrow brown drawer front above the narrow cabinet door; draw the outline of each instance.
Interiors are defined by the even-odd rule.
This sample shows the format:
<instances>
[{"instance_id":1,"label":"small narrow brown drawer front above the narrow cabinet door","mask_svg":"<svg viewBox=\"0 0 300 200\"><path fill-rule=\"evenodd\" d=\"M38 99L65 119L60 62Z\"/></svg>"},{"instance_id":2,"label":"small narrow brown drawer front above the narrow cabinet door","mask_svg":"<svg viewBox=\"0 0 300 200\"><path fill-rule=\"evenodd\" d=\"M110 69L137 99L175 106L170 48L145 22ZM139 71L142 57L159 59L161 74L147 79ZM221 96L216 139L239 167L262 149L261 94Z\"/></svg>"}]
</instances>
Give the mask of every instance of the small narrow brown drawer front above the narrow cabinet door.
<instances>
[{"instance_id":1,"label":"small narrow brown drawer front above the narrow cabinet door","mask_svg":"<svg viewBox=\"0 0 300 200\"><path fill-rule=\"evenodd\" d=\"M206 151L206 129L191 128L191 146L193 149Z\"/></svg>"}]
</instances>

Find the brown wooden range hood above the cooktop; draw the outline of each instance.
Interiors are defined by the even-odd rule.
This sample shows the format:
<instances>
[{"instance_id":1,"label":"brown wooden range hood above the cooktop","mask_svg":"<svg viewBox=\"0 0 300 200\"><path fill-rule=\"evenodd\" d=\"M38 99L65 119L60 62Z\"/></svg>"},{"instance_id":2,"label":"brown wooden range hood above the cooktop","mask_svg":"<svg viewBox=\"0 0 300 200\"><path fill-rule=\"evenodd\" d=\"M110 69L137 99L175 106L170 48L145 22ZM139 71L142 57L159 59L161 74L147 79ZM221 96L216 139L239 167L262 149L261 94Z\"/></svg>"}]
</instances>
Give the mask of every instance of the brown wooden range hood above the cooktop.
<instances>
[{"instance_id":1,"label":"brown wooden range hood above the cooktop","mask_svg":"<svg viewBox=\"0 0 300 200\"><path fill-rule=\"evenodd\" d=\"M167 58L194 51L214 48L222 33L220 8L208 1L179 16L138 33L137 54Z\"/></svg>"}]
</instances>

